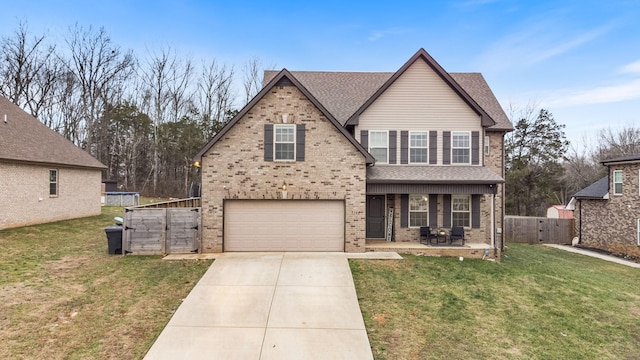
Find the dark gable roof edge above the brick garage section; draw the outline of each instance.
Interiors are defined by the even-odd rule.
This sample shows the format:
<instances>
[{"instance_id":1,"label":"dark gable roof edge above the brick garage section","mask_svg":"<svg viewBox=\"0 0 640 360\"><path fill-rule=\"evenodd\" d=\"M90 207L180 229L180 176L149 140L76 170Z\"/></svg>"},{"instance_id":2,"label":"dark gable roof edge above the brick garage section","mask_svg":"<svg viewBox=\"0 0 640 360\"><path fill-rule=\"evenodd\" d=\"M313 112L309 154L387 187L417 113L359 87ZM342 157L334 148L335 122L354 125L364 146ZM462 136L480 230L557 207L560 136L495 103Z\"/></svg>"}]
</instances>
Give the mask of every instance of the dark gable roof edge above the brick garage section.
<instances>
[{"instance_id":1,"label":"dark gable roof edge above the brick garage section","mask_svg":"<svg viewBox=\"0 0 640 360\"><path fill-rule=\"evenodd\" d=\"M349 142L351 142L351 144L353 144L353 146L356 147L356 149L358 149L358 151L360 151L360 153L362 153L362 155L365 156L366 162L367 164L372 164L375 162L375 159L373 158L373 156L371 156L371 154L369 154L367 152L367 150L362 147L362 145L360 145L359 142L357 142L353 136L351 136L351 134L349 134L349 132L342 126L342 124L340 124L338 122L338 120L336 120L336 118L329 112L327 111L327 109L318 101L318 99L315 98L315 96L313 96L309 90L307 90L301 83L300 81L298 81L298 79L296 79L295 76L293 76L287 69L282 69L275 77L273 77L269 83L267 83L262 90L260 90L260 92L247 104L245 105L244 108L242 108L242 110L240 110L240 112L238 114L236 114L236 116L233 117L233 119L231 119L212 139L211 141L209 141L203 148L202 150L200 150L198 152L198 154L196 154L196 156L194 157L195 160L200 160L202 158L202 155L204 155L204 153L206 153L207 151L209 151L209 149L211 149L211 147L218 141L220 140L224 134L227 133L227 131L229 131L229 129L231 129L238 121L240 121L240 119L242 119L243 116L245 116L260 100L262 100L262 98L269 93L269 91L271 91L271 89L278 85L279 83L282 84L287 84L287 85L293 85L295 87L298 88L298 90L300 90L300 92L302 92L310 101L313 105L315 105L316 108L318 108L318 110L320 110L320 112L322 113L322 115L324 115L327 120L329 120L329 122L331 122L331 124L333 124L333 126L336 127L336 129L338 131L340 131L346 138L347 140L349 140Z\"/></svg>"}]
</instances>

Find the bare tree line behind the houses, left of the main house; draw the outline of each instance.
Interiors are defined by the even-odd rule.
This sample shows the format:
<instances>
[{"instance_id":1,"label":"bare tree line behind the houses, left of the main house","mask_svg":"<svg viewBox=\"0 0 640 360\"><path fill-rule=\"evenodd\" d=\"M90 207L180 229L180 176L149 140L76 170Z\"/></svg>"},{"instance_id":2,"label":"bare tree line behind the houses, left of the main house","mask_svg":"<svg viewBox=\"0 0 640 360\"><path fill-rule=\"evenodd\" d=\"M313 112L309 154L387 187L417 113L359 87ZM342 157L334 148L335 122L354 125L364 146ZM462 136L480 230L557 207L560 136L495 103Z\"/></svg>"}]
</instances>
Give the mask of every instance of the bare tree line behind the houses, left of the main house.
<instances>
[{"instance_id":1,"label":"bare tree line behind the houses, left of the main house","mask_svg":"<svg viewBox=\"0 0 640 360\"><path fill-rule=\"evenodd\" d=\"M170 47L141 57L78 24L53 43L21 22L0 50L0 95L105 164L104 178L150 196L188 195L193 155L257 94L264 65L236 71Z\"/></svg>"}]
</instances>

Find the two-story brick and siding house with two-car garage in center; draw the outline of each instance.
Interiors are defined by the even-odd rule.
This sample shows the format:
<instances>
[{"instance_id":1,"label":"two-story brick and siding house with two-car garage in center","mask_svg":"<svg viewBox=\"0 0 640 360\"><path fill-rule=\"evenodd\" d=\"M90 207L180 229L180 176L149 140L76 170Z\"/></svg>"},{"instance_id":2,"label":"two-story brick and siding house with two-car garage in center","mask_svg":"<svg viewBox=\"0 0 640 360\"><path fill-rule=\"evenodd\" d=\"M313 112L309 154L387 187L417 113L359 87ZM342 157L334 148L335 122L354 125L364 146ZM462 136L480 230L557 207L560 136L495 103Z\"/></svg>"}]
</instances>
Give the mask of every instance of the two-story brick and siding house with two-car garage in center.
<instances>
[{"instance_id":1,"label":"two-story brick and siding house with two-car garage in center","mask_svg":"<svg viewBox=\"0 0 640 360\"><path fill-rule=\"evenodd\" d=\"M481 74L447 73L421 49L395 73L264 82L195 157L204 252L363 252L463 226L499 253L513 127Z\"/></svg>"}]
</instances>

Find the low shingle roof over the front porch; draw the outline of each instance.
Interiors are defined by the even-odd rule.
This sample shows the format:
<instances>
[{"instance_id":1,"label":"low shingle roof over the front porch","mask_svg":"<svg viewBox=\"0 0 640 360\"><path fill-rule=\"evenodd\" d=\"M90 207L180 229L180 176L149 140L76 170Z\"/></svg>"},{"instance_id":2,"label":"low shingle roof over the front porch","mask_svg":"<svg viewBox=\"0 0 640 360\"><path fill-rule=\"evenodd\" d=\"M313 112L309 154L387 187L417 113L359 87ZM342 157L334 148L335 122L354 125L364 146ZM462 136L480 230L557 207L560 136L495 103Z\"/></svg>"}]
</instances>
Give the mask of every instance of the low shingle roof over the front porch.
<instances>
[{"instance_id":1,"label":"low shingle roof over the front porch","mask_svg":"<svg viewBox=\"0 0 640 360\"><path fill-rule=\"evenodd\" d=\"M484 166L397 166L367 168L367 183L497 184L504 180Z\"/></svg>"}]
</instances>

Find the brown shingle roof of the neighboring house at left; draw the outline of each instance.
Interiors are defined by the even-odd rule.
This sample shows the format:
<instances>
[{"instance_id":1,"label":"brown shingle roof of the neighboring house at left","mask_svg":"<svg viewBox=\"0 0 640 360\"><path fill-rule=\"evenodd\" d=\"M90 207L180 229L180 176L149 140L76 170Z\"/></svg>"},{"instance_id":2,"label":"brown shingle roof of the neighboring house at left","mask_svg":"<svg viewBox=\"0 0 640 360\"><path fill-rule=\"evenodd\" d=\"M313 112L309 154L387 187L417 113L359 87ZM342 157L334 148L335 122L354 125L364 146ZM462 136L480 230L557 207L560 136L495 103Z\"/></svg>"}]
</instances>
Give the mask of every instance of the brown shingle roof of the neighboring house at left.
<instances>
[{"instance_id":1,"label":"brown shingle roof of the neighboring house at left","mask_svg":"<svg viewBox=\"0 0 640 360\"><path fill-rule=\"evenodd\" d=\"M106 168L86 151L0 96L0 161L2 160Z\"/></svg>"}]
</instances>

